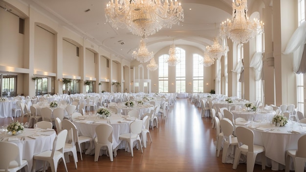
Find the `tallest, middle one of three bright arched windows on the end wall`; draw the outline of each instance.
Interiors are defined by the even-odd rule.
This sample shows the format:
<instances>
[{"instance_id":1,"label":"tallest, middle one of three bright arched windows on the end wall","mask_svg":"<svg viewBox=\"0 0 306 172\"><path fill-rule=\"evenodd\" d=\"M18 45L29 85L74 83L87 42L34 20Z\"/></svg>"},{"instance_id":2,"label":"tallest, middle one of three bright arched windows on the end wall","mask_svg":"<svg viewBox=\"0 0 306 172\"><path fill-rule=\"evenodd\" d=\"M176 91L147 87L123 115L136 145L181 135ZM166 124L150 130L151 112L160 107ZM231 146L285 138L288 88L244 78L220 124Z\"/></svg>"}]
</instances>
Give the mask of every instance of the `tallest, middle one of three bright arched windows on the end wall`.
<instances>
[{"instance_id":1,"label":"tallest, middle one of three bright arched windows on the end wall","mask_svg":"<svg viewBox=\"0 0 306 172\"><path fill-rule=\"evenodd\" d=\"M185 50L176 47L176 57L180 62L175 66L176 93L186 92L186 58Z\"/></svg>"}]
</instances>

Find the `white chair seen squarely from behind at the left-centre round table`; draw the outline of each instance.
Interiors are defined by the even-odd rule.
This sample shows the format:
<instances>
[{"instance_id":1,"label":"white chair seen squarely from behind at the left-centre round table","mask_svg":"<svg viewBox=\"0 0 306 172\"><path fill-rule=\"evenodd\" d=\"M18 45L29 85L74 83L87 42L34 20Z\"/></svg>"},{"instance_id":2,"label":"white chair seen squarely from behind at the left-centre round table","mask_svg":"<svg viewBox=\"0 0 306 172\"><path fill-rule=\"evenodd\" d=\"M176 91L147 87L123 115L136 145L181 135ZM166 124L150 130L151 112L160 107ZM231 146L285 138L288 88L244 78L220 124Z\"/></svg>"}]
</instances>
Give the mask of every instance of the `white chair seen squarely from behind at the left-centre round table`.
<instances>
[{"instance_id":1,"label":"white chair seen squarely from behind at the left-centre round table","mask_svg":"<svg viewBox=\"0 0 306 172\"><path fill-rule=\"evenodd\" d=\"M113 144L112 144L112 126L109 124L100 124L96 127L97 137L94 138L94 161L99 159L100 150L106 146L109 152L109 159L113 161ZM116 154L116 153L115 153Z\"/></svg>"}]
</instances>

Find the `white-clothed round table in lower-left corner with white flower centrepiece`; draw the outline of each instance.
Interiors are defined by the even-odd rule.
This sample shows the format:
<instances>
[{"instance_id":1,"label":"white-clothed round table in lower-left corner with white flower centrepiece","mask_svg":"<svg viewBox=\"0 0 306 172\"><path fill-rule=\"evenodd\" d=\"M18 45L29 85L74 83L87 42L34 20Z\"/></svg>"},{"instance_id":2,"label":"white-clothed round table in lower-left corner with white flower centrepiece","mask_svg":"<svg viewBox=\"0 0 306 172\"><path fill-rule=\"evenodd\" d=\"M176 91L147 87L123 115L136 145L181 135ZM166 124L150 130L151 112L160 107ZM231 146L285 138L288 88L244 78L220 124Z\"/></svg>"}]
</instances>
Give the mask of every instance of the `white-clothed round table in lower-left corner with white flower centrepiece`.
<instances>
[{"instance_id":1,"label":"white-clothed round table in lower-left corner with white flower centrepiece","mask_svg":"<svg viewBox=\"0 0 306 172\"><path fill-rule=\"evenodd\" d=\"M22 137L24 136L24 140ZM20 151L20 158L28 162L28 171L31 172L33 165L33 156L44 151L52 150L53 141L56 133L52 129L35 130L24 129L23 133L18 135L4 134L0 141L14 142L18 145ZM37 161L36 170L42 171L44 169L44 162Z\"/></svg>"}]
</instances>

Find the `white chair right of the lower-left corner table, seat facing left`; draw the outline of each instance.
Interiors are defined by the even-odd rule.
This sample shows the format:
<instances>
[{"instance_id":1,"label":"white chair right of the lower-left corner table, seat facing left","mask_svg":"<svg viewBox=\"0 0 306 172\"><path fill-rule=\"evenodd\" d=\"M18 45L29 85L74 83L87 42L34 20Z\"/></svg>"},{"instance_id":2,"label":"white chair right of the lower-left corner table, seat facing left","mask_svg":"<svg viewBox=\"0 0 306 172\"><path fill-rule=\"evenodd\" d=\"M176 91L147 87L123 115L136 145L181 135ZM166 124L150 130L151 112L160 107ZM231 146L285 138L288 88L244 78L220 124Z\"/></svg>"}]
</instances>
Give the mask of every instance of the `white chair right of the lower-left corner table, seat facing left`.
<instances>
[{"instance_id":1,"label":"white chair right of the lower-left corner table, seat facing left","mask_svg":"<svg viewBox=\"0 0 306 172\"><path fill-rule=\"evenodd\" d=\"M60 159L63 159L65 170L66 172L68 172L64 157L64 147L65 147L66 137L67 137L67 130L61 131L55 137L53 141L53 147L52 147L53 149L51 151L45 151L33 156L32 172L36 172L36 160L42 160L48 162L51 166L51 171L56 172L58 167L58 162ZM44 169L46 166L46 162L44 163Z\"/></svg>"}]
</instances>

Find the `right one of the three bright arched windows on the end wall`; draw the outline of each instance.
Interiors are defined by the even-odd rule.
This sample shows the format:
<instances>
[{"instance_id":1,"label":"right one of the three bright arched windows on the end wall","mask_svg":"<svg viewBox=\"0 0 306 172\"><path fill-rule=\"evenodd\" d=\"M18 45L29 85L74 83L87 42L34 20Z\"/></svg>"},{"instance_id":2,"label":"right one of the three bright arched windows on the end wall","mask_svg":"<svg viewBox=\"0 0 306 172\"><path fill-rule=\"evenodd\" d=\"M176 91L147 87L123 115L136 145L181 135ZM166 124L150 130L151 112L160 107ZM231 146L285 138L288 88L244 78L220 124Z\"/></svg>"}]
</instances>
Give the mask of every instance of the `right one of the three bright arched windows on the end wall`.
<instances>
[{"instance_id":1,"label":"right one of the three bright arched windows on the end wall","mask_svg":"<svg viewBox=\"0 0 306 172\"><path fill-rule=\"evenodd\" d=\"M200 64L202 56L198 54L193 55L193 92L203 93L204 92L204 66Z\"/></svg>"}]
</instances>

